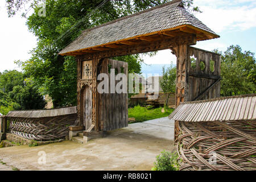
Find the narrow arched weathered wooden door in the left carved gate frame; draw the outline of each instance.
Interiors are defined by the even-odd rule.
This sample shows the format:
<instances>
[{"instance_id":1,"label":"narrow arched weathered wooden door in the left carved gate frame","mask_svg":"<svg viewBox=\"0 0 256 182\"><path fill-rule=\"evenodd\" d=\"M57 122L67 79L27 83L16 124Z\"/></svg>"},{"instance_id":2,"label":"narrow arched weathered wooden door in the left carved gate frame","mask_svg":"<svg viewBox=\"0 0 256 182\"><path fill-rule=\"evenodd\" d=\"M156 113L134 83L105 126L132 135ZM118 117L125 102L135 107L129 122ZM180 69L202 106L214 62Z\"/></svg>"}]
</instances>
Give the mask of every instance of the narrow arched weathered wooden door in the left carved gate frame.
<instances>
[{"instance_id":1,"label":"narrow arched weathered wooden door in the left carved gate frame","mask_svg":"<svg viewBox=\"0 0 256 182\"><path fill-rule=\"evenodd\" d=\"M88 130L92 125L92 89L90 86L85 86L82 95L82 120L85 130Z\"/></svg>"}]
</instances>

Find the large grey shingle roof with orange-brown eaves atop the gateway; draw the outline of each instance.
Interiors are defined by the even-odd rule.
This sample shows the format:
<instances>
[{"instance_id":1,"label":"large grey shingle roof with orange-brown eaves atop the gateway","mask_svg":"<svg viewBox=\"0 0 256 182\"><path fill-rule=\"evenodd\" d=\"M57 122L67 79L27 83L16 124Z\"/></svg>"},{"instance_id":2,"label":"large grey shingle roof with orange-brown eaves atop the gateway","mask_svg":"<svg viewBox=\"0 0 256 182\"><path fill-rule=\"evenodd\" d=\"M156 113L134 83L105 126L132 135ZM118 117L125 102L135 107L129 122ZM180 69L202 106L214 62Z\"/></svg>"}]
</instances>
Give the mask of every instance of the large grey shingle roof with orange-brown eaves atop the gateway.
<instances>
[{"instance_id":1,"label":"large grey shingle roof with orange-brown eaves atop the gateway","mask_svg":"<svg viewBox=\"0 0 256 182\"><path fill-rule=\"evenodd\" d=\"M145 36L150 40L152 39L150 35L163 32L166 33L163 35L175 36L177 32L166 32L173 30L196 34L198 35L197 40L220 37L185 10L180 0L174 0L84 30L77 39L60 51L59 54L72 55L76 51L92 50L96 47L102 49L105 45L120 43L124 40L134 40L142 37L141 40L145 40Z\"/></svg>"}]
</instances>

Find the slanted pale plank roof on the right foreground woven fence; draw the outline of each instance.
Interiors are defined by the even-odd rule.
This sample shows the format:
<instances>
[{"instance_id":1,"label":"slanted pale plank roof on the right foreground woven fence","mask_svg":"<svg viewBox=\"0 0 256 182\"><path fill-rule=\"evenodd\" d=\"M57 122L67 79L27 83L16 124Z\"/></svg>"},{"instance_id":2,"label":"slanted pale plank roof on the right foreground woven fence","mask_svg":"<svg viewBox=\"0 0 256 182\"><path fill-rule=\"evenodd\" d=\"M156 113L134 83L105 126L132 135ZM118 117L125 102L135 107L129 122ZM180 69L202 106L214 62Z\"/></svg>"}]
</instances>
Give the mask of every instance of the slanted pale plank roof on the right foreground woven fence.
<instances>
[{"instance_id":1,"label":"slanted pale plank roof on the right foreground woven fence","mask_svg":"<svg viewBox=\"0 0 256 182\"><path fill-rule=\"evenodd\" d=\"M255 120L256 94L183 102L169 118L183 122Z\"/></svg>"}]
</instances>

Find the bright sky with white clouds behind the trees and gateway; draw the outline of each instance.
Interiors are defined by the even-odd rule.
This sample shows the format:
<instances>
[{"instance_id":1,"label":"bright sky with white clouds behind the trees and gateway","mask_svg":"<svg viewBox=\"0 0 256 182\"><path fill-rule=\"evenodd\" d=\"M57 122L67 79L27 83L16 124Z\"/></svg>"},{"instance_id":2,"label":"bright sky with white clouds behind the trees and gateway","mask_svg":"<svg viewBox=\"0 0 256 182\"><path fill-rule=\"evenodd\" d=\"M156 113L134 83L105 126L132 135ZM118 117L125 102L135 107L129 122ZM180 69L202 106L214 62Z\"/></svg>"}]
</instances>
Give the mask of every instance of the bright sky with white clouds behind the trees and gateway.
<instances>
[{"instance_id":1,"label":"bright sky with white clouds behind the trees and gateway","mask_svg":"<svg viewBox=\"0 0 256 182\"><path fill-rule=\"evenodd\" d=\"M225 51L230 45L240 45L243 51L256 52L256 1L255 0L194 0L203 13L195 16L220 35L218 39L197 42L194 47L212 51ZM36 37L28 31L26 19L20 14L8 18L5 1L0 1L0 72L17 69L15 60L30 58L30 50L36 47ZM153 56L143 56L144 63L176 63L170 50L158 51Z\"/></svg>"}]
</instances>

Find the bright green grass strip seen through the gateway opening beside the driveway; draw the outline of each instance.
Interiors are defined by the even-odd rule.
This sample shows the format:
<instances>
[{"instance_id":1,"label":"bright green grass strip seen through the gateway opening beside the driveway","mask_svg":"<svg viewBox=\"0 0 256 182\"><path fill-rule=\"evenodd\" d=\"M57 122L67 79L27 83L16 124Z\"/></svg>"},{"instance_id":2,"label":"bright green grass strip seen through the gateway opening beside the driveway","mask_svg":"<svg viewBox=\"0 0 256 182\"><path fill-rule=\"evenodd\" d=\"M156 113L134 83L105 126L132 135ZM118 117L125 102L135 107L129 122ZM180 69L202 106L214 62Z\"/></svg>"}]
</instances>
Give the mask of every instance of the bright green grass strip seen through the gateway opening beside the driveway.
<instances>
[{"instance_id":1,"label":"bright green grass strip seen through the gateway opening beside the driveway","mask_svg":"<svg viewBox=\"0 0 256 182\"><path fill-rule=\"evenodd\" d=\"M128 109L128 117L135 118L135 122L143 122L150 119L167 117L172 113L172 111L174 111L174 109L165 108L165 112L162 113L162 108L163 107L142 107L138 105Z\"/></svg>"}]
</instances>

